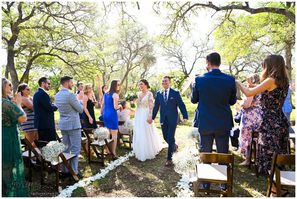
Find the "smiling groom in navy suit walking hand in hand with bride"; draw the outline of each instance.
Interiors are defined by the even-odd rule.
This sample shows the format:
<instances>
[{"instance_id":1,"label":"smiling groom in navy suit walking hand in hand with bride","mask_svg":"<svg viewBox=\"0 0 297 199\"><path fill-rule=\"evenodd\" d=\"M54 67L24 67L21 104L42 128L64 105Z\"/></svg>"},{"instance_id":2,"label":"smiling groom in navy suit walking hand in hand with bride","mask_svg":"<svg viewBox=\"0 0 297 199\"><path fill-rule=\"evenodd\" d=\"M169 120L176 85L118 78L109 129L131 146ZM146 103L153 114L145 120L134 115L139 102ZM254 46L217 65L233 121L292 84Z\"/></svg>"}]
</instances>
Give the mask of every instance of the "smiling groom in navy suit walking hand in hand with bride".
<instances>
[{"instance_id":1,"label":"smiling groom in navy suit walking hand in hand with bride","mask_svg":"<svg viewBox=\"0 0 297 199\"><path fill-rule=\"evenodd\" d=\"M162 128L163 138L168 143L167 161L164 166L172 164L172 154L177 152L178 145L175 144L175 130L178 125L178 110L184 118L184 123L188 122L188 113L186 106L181 99L181 95L177 90L170 88L170 77L164 76L162 78L163 89L159 90L155 98L155 106L153 109L153 120L156 118L160 107L160 124Z\"/></svg>"}]
</instances>

